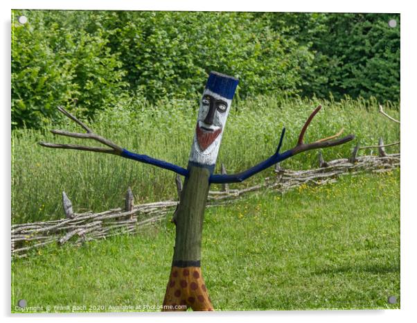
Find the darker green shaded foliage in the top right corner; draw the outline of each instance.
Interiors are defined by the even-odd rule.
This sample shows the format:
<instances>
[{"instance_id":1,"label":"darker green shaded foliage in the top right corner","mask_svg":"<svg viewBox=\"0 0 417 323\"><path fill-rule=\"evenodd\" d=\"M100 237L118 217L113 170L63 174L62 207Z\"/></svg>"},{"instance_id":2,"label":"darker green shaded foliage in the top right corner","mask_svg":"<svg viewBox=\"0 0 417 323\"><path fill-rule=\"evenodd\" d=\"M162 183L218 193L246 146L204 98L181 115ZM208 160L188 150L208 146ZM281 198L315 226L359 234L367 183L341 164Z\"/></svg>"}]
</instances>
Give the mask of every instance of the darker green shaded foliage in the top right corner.
<instances>
[{"instance_id":1,"label":"darker green shaded foliage in the top right corner","mask_svg":"<svg viewBox=\"0 0 417 323\"><path fill-rule=\"evenodd\" d=\"M400 100L400 15L265 15L272 28L314 53L311 69L301 71L305 96ZM395 28L390 19L396 19Z\"/></svg>"}]
</instances>

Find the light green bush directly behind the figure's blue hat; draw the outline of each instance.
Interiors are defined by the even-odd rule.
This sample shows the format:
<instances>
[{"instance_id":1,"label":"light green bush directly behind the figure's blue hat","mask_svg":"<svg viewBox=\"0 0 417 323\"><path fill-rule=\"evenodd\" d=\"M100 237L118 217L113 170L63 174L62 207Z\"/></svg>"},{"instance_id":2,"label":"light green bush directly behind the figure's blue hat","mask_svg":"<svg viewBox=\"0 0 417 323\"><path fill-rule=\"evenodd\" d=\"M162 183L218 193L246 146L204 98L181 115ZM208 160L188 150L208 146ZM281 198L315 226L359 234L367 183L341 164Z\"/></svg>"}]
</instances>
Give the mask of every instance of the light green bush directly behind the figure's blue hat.
<instances>
[{"instance_id":1,"label":"light green bush directly behind the figure's blue hat","mask_svg":"<svg viewBox=\"0 0 417 323\"><path fill-rule=\"evenodd\" d=\"M200 94L212 70L240 79L239 96L292 95L312 55L248 12L114 12L106 30L132 89L155 101Z\"/></svg>"}]
</instances>

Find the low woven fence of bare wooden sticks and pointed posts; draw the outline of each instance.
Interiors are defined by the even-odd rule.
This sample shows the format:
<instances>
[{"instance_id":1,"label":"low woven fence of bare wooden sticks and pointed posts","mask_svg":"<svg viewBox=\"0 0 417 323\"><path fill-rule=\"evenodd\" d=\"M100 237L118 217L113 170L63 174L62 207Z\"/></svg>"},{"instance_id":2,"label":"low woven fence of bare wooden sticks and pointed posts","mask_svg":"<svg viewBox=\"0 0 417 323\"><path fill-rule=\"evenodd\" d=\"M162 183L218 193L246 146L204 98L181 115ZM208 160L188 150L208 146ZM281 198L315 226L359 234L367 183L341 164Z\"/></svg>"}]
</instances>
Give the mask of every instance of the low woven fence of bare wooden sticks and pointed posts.
<instances>
[{"instance_id":1,"label":"low woven fence of bare wooden sticks and pointed posts","mask_svg":"<svg viewBox=\"0 0 417 323\"><path fill-rule=\"evenodd\" d=\"M323 160L323 156L319 152L319 168L307 171L291 171L283 169L279 164L276 164L276 177L268 177L262 184L240 190L229 189L229 186L223 185L221 191L210 191L208 194L208 207L227 203L245 193L260 189L275 189L285 193L302 184L321 185L335 182L338 176L346 173L354 175L363 172L380 173L400 166L400 154L387 155L383 149L382 139L380 139L378 146L372 146L372 148L379 149L378 156L357 157L358 150L370 147L357 145L349 158L327 162ZM222 165L222 173L226 173L224 165ZM178 177L175 183L179 197L181 195L182 183ZM134 205L134 195L129 188L126 193L124 209L110 209L100 213L93 213L92 211L75 213L73 212L71 200L64 192L62 193L62 204L64 206L65 218L12 225L12 256L24 257L28 255L30 250L35 250L51 243L80 245L86 241L119 234L136 234L143 228L166 220L167 215L174 213L178 201L168 200Z\"/></svg>"}]
</instances>

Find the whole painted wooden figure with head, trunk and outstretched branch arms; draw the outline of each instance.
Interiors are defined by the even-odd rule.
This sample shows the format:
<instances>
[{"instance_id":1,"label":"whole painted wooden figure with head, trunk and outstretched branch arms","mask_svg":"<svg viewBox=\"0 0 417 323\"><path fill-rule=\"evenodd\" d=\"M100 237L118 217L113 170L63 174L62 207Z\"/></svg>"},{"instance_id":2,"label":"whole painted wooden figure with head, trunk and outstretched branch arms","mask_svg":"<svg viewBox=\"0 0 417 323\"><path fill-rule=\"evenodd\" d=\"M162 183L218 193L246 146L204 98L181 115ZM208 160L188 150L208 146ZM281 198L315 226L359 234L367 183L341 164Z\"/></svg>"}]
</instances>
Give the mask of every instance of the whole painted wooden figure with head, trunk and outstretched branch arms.
<instances>
[{"instance_id":1,"label":"whole painted wooden figure with head, trunk and outstretched branch arms","mask_svg":"<svg viewBox=\"0 0 417 323\"><path fill-rule=\"evenodd\" d=\"M299 140L294 148L282 153L280 152L285 134L284 128L281 132L281 138L279 139L276 152L265 161L260 162L242 173L234 175L213 175L224 126L226 125L231 101L237 85L238 80L231 76L217 72L211 72L208 76L199 107L195 136L191 146L187 168L154 159L147 155L138 155L123 149L115 143L112 143L112 141L100 137L98 134L94 134L87 125L76 119L69 112L66 112L62 107L58 108L60 112L78 123L87 133L51 130L53 134L81 139L94 139L109 148L74 144L39 143L41 146L48 148L89 150L120 155L125 158L169 169L185 177L184 189L181 191L179 205L173 218L173 222L176 225L175 249L166 295L163 299L163 308L165 311L186 311L188 307L194 311L213 311L213 305L211 304L211 299L208 297L207 288L200 268L204 209L206 207L210 184L242 182L269 166L300 152L337 146L351 141L354 138L353 135L348 135L341 139L331 140L337 137L339 135L338 133L332 137L320 139L313 143L304 143L303 137L305 131L314 115L319 112L321 108L319 106L305 122L299 135Z\"/></svg>"}]
</instances>

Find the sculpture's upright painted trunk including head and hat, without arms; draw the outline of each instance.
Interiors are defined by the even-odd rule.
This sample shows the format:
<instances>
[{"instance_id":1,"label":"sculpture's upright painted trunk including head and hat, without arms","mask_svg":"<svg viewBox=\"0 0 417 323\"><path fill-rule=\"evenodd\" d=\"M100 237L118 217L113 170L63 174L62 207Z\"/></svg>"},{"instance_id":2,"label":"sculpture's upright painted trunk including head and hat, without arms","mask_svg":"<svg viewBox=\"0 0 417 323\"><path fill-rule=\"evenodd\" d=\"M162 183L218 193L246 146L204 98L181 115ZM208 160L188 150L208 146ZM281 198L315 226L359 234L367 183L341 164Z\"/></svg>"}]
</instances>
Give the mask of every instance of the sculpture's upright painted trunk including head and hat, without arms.
<instances>
[{"instance_id":1,"label":"sculpture's upright painted trunk including head and hat, without arms","mask_svg":"<svg viewBox=\"0 0 417 323\"><path fill-rule=\"evenodd\" d=\"M199 108L188 176L175 212L175 250L163 311L213 311L200 268L204 209L210 176L238 80L212 72ZM178 307L180 306L180 307Z\"/></svg>"}]
</instances>

